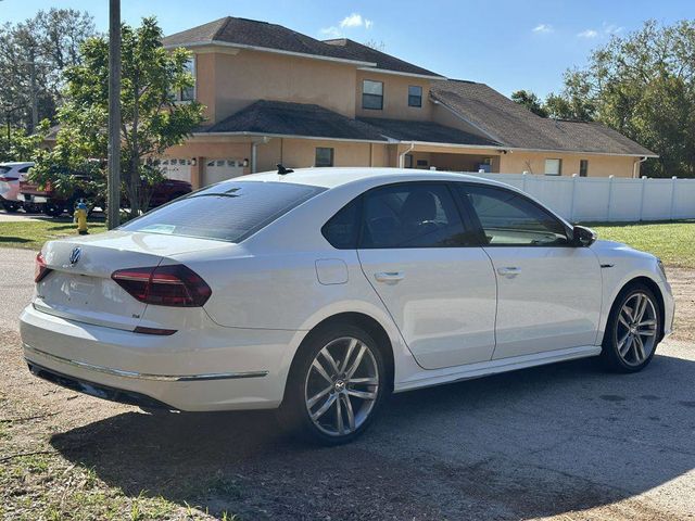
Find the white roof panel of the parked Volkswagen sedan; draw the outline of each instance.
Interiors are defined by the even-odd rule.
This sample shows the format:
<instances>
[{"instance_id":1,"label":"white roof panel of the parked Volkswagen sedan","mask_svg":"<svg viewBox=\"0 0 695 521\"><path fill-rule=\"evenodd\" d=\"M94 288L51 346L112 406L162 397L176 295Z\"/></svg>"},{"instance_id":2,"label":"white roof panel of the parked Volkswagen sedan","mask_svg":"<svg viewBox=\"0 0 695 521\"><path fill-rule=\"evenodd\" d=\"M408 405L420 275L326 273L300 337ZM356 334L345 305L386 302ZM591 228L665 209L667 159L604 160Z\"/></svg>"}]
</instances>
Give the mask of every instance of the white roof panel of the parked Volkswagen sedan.
<instances>
[{"instance_id":1,"label":"white roof panel of the parked Volkswagen sedan","mask_svg":"<svg viewBox=\"0 0 695 521\"><path fill-rule=\"evenodd\" d=\"M415 168L367 168L367 167L329 167L298 168L289 174L279 175L277 170L237 177L235 181L275 181L307 185L321 188L337 188L343 185L377 186L388 182L403 181L475 181L485 185L504 186L482 177L458 174L454 171L424 170ZM362 181L362 182L361 182Z\"/></svg>"}]
</instances>

